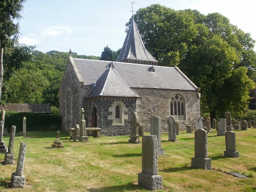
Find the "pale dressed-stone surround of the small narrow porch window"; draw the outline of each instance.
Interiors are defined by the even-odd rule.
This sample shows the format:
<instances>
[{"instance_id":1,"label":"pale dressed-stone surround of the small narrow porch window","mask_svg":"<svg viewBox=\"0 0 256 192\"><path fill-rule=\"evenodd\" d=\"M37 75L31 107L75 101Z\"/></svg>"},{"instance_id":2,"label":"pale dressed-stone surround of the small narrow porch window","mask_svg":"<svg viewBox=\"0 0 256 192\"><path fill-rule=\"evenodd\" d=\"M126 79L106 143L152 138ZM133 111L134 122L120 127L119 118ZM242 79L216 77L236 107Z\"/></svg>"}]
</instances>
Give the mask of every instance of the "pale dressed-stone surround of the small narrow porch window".
<instances>
[{"instance_id":1,"label":"pale dressed-stone surround of the small narrow porch window","mask_svg":"<svg viewBox=\"0 0 256 192\"><path fill-rule=\"evenodd\" d=\"M120 109L120 118L116 119L116 105L119 105ZM111 107L109 108L109 111L112 112L112 115L108 116L109 120L113 120L112 125L124 125L124 119L128 119L128 115L124 115L124 112L127 111L127 108L125 108L125 104L120 100L115 100Z\"/></svg>"}]
</instances>

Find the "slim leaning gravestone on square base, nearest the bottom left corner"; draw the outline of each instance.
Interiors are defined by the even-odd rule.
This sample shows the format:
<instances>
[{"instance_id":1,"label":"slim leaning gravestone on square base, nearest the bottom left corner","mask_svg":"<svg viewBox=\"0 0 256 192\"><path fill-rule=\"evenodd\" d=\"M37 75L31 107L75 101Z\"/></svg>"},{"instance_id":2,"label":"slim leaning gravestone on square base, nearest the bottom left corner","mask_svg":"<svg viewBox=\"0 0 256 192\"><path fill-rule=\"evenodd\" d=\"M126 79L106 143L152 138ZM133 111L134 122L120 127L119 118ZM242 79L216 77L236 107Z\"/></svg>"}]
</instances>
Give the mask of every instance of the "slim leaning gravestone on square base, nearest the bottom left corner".
<instances>
[{"instance_id":1,"label":"slim leaning gravestone on square base, nearest the bottom left corner","mask_svg":"<svg viewBox=\"0 0 256 192\"><path fill-rule=\"evenodd\" d=\"M26 178L23 175L23 169L24 169L26 148L27 148L26 143L20 143L16 172L12 173L12 177L11 177L12 188L24 188L25 186Z\"/></svg>"}]
</instances>

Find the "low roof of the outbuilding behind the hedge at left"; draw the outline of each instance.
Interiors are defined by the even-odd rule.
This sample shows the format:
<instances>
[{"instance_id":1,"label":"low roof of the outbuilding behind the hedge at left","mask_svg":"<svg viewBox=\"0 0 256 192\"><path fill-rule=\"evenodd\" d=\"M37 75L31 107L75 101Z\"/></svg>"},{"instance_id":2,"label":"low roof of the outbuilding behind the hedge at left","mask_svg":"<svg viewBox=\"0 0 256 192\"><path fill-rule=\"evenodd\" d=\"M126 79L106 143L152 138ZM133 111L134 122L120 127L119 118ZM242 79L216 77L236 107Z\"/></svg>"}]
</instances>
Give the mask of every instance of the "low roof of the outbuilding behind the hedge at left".
<instances>
[{"instance_id":1,"label":"low roof of the outbuilding behind the hedge at left","mask_svg":"<svg viewBox=\"0 0 256 192\"><path fill-rule=\"evenodd\" d=\"M17 111L28 113L52 113L49 103L46 104L31 104L31 103L6 103L1 105L0 109L5 111Z\"/></svg>"}]
</instances>

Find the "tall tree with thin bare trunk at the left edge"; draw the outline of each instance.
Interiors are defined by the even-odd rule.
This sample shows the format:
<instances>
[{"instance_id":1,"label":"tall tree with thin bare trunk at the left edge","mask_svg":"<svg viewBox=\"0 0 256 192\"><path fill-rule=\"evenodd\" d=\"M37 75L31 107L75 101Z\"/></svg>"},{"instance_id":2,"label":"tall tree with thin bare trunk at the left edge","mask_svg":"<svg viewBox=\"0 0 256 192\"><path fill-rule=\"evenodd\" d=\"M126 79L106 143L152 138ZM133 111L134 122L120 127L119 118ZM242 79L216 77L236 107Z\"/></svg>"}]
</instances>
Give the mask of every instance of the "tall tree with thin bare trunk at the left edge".
<instances>
[{"instance_id":1,"label":"tall tree with thin bare trunk at the left edge","mask_svg":"<svg viewBox=\"0 0 256 192\"><path fill-rule=\"evenodd\" d=\"M4 76L3 54L4 49L13 47L18 42L19 24L14 20L19 20L19 14L23 9L26 0L1 0L0 1L0 99L2 92L2 82Z\"/></svg>"}]
</instances>

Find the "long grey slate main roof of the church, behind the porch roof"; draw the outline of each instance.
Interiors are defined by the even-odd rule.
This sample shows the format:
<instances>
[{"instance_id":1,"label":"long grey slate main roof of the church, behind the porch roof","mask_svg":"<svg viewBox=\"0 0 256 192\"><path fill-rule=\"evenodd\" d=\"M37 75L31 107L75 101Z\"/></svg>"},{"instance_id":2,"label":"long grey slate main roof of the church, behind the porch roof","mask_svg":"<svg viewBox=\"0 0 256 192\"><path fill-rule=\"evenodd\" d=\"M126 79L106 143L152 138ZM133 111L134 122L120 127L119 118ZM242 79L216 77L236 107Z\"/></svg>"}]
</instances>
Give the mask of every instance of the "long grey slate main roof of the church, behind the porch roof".
<instances>
[{"instance_id":1,"label":"long grey slate main roof of the church, behind the porch roof","mask_svg":"<svg viewBox=\"0 0 256 192\"><path fill-rule=\"evenodd\" d=\"M90 86L94 85L109 67L110 63L110 61L102 60L72 57L70 59L73 60L77 68L77 73L79 73L77 75L81 77L84 85ZM130 88L198 91L198 87L177 67L151 66L125 62L113 62L113 66L120 79ZM113 87L117 86L118 83L116 81L118 78L115 77L112 80L115 82L113 83Z\"/></svg>"}]
</instances>

